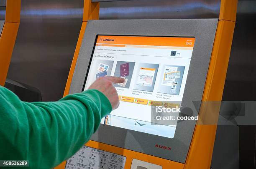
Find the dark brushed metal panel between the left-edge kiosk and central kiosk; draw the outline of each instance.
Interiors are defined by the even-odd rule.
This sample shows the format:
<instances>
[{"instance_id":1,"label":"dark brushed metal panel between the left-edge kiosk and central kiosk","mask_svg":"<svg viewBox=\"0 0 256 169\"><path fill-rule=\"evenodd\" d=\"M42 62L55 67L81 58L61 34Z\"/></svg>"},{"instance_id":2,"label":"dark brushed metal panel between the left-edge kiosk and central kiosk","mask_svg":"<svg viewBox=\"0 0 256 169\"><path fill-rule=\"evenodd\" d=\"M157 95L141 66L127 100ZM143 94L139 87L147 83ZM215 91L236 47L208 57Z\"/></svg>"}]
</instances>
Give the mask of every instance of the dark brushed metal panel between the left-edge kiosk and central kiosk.
<instances>
[{"instance_id":1,"label":"dark brushed metal panel between the left-edge kiosk and central kiosk","mask_svg":"<svg viewBox=\"0 0 256 169\"><path fill-rule=\"evenodd\" d=\"M43 101L63 96L82 25L83 0L22 0L8 78L38 88Z\"/></svg>"}]
</instances>

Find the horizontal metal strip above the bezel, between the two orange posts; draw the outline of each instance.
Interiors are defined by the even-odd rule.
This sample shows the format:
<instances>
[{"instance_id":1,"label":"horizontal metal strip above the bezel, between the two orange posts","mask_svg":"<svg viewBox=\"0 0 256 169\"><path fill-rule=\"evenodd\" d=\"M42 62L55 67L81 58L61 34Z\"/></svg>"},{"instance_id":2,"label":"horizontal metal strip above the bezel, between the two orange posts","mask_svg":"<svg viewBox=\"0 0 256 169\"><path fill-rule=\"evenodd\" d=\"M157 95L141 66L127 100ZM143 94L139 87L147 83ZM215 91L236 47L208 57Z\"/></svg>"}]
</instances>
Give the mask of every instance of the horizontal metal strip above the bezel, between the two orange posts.
<instances>
[{"instance_id":1,"label":"horizontal metal strip above the bezel, between the two orange posts","mask_svg":"<svg viewBox=\"0 0 256 169\"><path fill-rule=\"evenodd\" d=\"M101 2L100 19L219 18L220 0Z\"/></svg>"}]
</instances>

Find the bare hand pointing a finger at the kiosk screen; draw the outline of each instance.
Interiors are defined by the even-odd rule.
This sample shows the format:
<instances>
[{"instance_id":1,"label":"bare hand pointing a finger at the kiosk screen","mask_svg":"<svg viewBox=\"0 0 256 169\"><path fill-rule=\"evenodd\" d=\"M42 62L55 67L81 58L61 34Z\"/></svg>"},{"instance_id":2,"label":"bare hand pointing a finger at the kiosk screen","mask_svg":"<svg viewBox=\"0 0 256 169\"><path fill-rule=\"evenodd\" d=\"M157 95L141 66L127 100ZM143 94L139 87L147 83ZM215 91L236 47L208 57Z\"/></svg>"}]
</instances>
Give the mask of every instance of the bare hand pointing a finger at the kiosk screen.
<instances>
[{"instance_id":1,"label":"bare hand pointing a finger at the kiosk screen","mask_svg":"<svg viewBox=\"0 0 256 169\"><path fill-rule=\"evenodd\" d=\"M95 82L92 83L92 85L89 87L89 89L97 89L108 98L108 100L111 103L112 110L118 108L119 106L119 97L118 93L113 86L113 83L123 83L125 80L121 77L113 77L113 76L107 76L107 77L100 77Z\"/></svg>"}]
</instances>

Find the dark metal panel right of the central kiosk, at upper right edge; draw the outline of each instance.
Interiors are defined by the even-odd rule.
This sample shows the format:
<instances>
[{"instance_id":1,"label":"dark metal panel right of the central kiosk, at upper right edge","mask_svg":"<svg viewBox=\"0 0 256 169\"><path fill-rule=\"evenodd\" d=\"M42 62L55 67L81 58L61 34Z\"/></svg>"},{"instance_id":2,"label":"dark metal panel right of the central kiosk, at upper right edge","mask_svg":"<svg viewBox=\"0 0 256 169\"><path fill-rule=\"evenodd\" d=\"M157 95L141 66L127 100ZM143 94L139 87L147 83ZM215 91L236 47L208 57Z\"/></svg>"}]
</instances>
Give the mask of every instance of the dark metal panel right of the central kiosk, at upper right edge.
<instances>
[{"instance_id":1,"label":"dark metal panel right of the central kiosk, at upper right edge","mask_svg":"<svg viewBox=\"0 0 256 169\"><path fill-rule=\"evenodd\" d=\"M239 0L223 100L256 100L256 1Z\"/></svg>"}]
</instances>

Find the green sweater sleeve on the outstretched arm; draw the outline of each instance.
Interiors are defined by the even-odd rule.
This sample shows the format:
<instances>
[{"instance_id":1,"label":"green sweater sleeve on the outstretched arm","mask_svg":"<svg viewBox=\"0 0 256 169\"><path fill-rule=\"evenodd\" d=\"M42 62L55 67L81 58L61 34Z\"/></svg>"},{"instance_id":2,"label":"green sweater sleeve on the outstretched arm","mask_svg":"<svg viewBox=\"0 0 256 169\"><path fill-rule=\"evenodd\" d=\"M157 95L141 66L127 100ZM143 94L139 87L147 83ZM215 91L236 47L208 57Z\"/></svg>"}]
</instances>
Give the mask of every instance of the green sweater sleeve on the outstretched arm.
<instances>
[{"instance_id":1,"label":"green sweater sleeve on the outstretched arm","mask_svg":"<svg viewBox=\"0 0 256 169\"><path fill-rule=\"evenodd\" d=\"M111 109L95 89L57 102L28 103L0 87L0 160L28 160L26 169L55 167L90 139Z\"/></svg>"}]
</instances>

